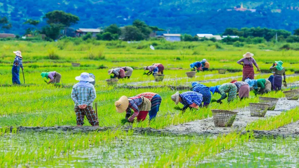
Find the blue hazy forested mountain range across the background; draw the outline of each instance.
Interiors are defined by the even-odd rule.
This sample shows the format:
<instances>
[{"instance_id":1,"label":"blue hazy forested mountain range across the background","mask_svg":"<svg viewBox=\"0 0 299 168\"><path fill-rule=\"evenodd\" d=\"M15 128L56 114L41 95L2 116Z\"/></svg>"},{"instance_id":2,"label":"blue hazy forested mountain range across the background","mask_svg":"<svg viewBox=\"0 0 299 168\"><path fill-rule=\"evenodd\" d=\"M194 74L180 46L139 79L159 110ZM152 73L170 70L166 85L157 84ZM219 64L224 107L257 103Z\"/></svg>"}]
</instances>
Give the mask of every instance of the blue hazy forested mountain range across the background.
<instances>
[{"instance_id":1,"label":"blue hazy forested mountain range across the background","mask_svg":"<svg viewBox=\"0 0 299 168\"><path fill-rule=\"evenodd\" d=\"M73 28L125 26L140 19L170 33L221 34L225 28L266 27L293 31L299 28L298 0L0 0L0 16L13 27L6 33L21 34L27 19L46 25L45 13L63 10L79 16ZM3 30L0 30L0 32Z\"/></svg>"}]
</instances>

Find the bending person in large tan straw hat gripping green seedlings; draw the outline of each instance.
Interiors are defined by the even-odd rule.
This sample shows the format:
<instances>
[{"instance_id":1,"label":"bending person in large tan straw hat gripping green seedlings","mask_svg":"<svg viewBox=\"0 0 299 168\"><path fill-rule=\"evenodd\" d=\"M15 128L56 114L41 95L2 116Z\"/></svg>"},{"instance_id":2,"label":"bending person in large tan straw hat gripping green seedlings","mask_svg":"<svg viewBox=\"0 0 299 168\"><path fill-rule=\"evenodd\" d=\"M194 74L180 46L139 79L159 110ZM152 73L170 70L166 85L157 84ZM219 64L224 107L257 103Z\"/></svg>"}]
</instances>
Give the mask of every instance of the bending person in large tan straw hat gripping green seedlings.
<instances>
[{"instance_id":1,"label":"bending person in large tan straw hat gripping green seedlings","mask_svg":"<svg viewBox=\"0 0 299 168\"><path fill-rule=\"evenodd\" d=\"M126 119L129 123L133 123L135 117L137 117L138 122L144 121L151 108L150 101L142 96L133 96L129 98L122 96L114 104L117 112L122 113L126 111ZM132 115L131 109L134 111Z\"/></svg>"}]
</instances>

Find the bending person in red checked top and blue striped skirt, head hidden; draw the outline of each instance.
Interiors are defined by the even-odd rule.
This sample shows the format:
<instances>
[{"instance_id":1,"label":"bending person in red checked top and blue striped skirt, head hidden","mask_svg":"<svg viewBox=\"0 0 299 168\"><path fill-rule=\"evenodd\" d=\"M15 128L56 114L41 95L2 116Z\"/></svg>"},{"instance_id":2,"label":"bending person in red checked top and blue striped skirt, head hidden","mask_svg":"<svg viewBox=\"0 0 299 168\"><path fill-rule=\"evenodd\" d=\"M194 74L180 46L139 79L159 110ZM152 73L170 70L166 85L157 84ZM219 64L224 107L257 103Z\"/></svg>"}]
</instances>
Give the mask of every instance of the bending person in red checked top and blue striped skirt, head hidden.
<instances>
[{"instance_id":1,"label":"bending person in red checked top and blue striped skirt, head hidden","mask_svg":"<svg viewBox=\"0 0 299 168\"><path fill-rule=\"evenodd\" d=\"M153 118L155 118L159 111L159 107L160 107L160 104L162 101L161 96L159 94L153 93L153 92L145 92L145 93L138 94L136 96L145 97L150 101L151 108L149 111L149 120L152 120Z\"/></svg>"}]
</instances>

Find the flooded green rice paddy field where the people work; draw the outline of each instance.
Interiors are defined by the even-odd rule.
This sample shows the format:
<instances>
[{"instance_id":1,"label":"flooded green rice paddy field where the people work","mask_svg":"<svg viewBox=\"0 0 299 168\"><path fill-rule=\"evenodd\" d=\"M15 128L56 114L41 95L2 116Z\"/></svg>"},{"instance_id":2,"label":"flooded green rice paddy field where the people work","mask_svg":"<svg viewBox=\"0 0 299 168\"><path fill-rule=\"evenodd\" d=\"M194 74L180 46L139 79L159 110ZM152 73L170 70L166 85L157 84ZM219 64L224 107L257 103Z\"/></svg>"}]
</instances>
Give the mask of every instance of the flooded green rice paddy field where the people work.
<instances>
[{"instance_id":1,"label":"flooded green rice paddy field where the people work","mask_svg":"<svg viewBox=\"0 0 299 168\"><path fill-rule=\"evenodd\" d=\"M255 79L268 78L272 63L282 60L288 83L283 91L297 88L299 51L279 50L279 45L283 44L0 42L0 167L298 167L298 100L286 100L282 91L269 92L263 97L279 98L276 108L265 117L250 117L249 103L259 102L251 92L249 99L224 100L182 114L171 100L176 90L168 87L191 87L195 81L210 87L242 80L242 66L236 62L249 51L261 69ZM21 72L21 85L12 85L12 51L17 50L22 51L25 84ZM204 58L210 71L188 78L190 63ZM72 62L80 67L72 67ZM143 75L143 67L153 63L165 67L161 82ZM134 68L132 77L107 85L108 69L119 66ZM219 74L219 68L227 72ZM46 84L40 76L43 71L59 72L60 84ZM82 72L96 78L99 128L92 128L86 118L85 126L75 127L71 88ZM149 122L147 117L123 125L125 114L116 112L114 102L122 95L147 91L162 97L155 120ZM211 109L237 111L233 126L215 127Z\"/></svg>"}]
</instances>

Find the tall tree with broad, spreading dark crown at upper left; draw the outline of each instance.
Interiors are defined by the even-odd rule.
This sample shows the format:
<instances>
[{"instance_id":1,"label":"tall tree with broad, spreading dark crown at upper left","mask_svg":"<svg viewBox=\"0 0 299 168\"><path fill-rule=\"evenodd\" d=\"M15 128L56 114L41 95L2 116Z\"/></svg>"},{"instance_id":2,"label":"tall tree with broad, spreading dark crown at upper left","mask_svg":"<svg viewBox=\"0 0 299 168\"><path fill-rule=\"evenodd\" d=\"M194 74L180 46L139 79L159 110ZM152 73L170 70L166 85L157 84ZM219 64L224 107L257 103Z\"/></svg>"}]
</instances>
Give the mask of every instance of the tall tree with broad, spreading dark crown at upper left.
<instances>
[{"instance_id":1,"label":"tall tree with broad, spreading dark crown at upper left","mask_svg":"<svg viewBox=\"0 0 299 168\"><path fill-rule=\"evenodd\" d=\"M46 13L44 18L48 19L48 24L59 24L64 25L64 34L66 30L73 24L76 24L79 21L79 17L71 13L65 13L62 10L54 10L52 12Z\"/></svg>"}]
</instances>

